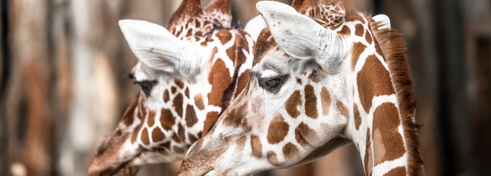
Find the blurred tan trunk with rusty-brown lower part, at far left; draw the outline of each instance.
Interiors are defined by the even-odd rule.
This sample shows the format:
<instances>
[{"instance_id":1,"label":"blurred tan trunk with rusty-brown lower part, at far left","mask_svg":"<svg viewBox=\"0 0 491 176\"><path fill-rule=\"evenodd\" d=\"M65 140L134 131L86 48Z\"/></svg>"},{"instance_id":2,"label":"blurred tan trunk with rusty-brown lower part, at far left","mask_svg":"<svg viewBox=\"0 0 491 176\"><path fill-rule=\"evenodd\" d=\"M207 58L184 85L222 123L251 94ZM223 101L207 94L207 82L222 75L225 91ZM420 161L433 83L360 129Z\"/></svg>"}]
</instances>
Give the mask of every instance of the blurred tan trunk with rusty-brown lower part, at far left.
<instances>
[{"instance_id":1,"label":"blurred tan trunk with rusty-brown lower part, at far left","mask_svg":"<svg viewBox=\"0 0 491 176\"><path fill-rule=\"evenodd\" d=\"M52 170L48 1L10 0L8 5L10 79L3 102L8 162L21 162L28 175L45 176Z\"/></svg>"}]
</instances>

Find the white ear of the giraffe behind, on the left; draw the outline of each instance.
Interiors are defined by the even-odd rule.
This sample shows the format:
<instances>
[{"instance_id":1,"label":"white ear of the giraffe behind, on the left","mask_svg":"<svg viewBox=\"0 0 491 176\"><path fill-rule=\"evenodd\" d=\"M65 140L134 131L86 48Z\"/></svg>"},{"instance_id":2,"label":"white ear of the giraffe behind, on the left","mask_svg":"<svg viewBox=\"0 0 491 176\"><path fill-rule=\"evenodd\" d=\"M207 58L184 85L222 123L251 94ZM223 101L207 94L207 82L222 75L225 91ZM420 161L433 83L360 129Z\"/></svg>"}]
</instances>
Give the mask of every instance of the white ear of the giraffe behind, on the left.
<instances>
[{"instance_id":1,"label":"white ear of the giraffe behind, on the left","mask_svg":"<svg viewBox=\"0 0 491 176\"><path fill-rule=\"evenodd\" d=\"M210 56L203 47L179 40L158 24L120 20L119 27L131 50L146 66L184 76L199 73Z\"/></svg>"}]
</instances>

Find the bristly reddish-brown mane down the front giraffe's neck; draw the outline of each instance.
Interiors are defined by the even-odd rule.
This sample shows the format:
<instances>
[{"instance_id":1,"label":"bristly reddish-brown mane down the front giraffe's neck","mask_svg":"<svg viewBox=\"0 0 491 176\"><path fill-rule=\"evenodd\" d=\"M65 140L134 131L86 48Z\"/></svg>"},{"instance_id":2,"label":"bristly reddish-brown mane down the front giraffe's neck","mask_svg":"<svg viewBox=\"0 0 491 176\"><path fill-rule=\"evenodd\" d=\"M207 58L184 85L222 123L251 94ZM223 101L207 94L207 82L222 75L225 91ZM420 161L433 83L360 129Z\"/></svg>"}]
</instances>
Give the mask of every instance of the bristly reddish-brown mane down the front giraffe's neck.
<instances>
[{"instance_id":1,"label":"bristly reddish-brown mane down the front giraffe's neck","mask_svg":"<svg viewBox=\"0 0 491 176\"><path fill-rule=\"evenodd\" d=\"M358 13L360 14L360 13ZM397 96L400 116L404 125L404 138L408 152L409 176L423 176L423 160L419 151L419 137L417 131L420 125L413 119L416 117L416 100L413 95L413 81L406 57L406 42L402 35L394 29L379 29L381 22L372 20L371 15L362 13L365 19L370 19L370 30L374 41L378 43L384 60L389 67L390 77Z\"/></svg>"}]
</instances>

